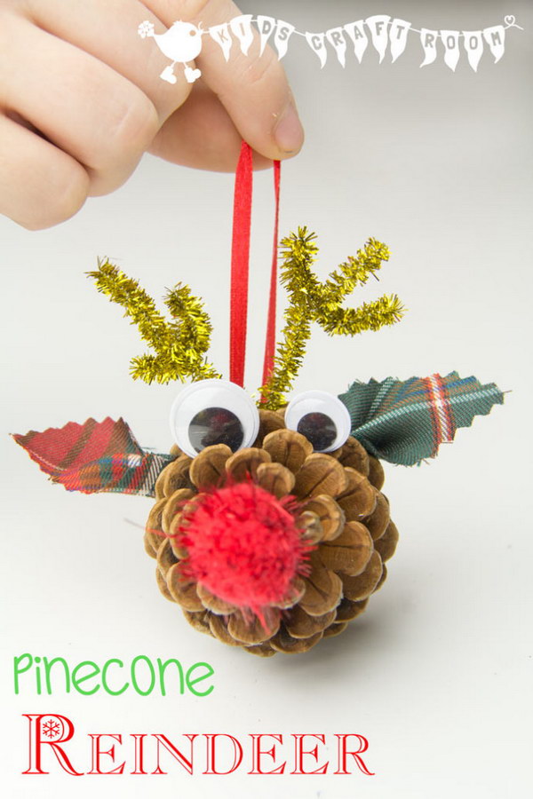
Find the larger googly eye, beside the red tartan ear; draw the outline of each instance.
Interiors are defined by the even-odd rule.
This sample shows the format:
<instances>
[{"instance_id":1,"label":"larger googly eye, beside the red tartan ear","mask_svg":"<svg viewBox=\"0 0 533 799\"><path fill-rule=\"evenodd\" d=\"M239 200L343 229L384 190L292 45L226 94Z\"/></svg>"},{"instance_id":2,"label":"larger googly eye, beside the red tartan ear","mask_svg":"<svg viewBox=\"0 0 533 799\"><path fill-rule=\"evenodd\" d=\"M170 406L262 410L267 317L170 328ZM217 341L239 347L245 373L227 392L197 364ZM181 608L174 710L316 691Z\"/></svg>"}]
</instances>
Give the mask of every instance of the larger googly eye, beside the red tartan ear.
<instances>
[{"instance_id":1,"label":"larger googly eye, beside the red tartan ear","mask_svg":"<svg viewBox=\"0 0 533 799\"><path fill-rule=\"evenodd\" d=\"M171 407L171 433L194 458L205 447L250 447L259 432L259 411L251 397L227 380L200 380L187 386Z\"/></svg>"}]
</instances>

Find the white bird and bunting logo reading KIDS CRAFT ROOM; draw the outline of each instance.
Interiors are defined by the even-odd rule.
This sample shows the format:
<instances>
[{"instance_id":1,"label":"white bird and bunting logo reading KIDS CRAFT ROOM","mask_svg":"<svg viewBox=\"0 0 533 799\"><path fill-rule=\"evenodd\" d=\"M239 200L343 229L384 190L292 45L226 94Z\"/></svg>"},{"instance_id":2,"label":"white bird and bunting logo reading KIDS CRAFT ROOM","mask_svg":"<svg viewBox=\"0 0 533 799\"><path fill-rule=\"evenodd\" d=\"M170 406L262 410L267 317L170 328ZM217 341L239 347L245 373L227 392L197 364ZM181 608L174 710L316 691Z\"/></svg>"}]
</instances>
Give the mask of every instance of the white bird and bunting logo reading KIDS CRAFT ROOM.
<instances>
[{"instance_id":1,"label":"white bird and bunting logo reading KIDS CRAFT ROOM","mask_svg":"<svg viewBox=\"0 0 533 799\"><path fill-rule=\"evenodd\" d=\"M202 75L201 70L195 67L195 59L202 52L203 36L208 35L219 45L227 61L231 57L234 43L243 55L248 56L251 45L258 35L259 56L271 42L278 59L287 54L289 43L298 38L303 39L323 68L328 61L328 51L335 53L341 67L346 67L346 54L350 43L354 45L354 56L360 64L368 50L369 42L378 53L380 64L385 59L387 50L390 50L391 61L394 64L405 51L410 33L415 33L419 36L424 53L420 67L434 64L439 54L442 54L446 66L455 72L461 53L466 53L468 64L474 72L477 72L485 50L484 43L489 46L494 63L497 64L505 52L505 31L509 28L523 30L516 24L512 15L507 15L504 22L504 25L493 25L480 30L432 30L413 28L407 20L393 19L388 14L374 14L366 20L346 22L338 28L302 33L284 20L264 15L253 17L251 14L239 14L233 20L213 25L211 28L203 28L202 22L196 26L192 22L178 20L163 34L155 33L154 23L145 20L139 24L137 32L142 39L155 39L155 44L171 60L160 75L163 81L176 83L174 68L181 68L187 82L194 83ZM257 30L253 27L254 24Z\"/></svg>"}]
</instances>

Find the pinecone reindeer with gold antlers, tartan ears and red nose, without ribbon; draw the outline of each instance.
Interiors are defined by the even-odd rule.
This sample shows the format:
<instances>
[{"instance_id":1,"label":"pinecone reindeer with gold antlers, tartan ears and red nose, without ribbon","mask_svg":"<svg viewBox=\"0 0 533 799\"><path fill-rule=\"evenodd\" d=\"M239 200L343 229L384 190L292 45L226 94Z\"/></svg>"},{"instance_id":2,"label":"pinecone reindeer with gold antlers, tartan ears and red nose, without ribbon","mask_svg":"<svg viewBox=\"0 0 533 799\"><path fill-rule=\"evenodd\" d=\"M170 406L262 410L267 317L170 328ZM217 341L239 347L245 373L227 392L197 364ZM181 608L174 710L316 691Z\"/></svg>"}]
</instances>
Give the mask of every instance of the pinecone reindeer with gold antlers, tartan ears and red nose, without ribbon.
<instances>
[{"instance_id":1,"label":"pinecone reindeer with gold antlers, tartan ears and red nose, without ribbon","mask_svg":"<svg viewBox=\"0 0 533 799\"><path fill-rule=\"evenodd\" d=\"M195 629L262 657L338 635L385 581L398 533L380 462L433 457L503 401L495 384L456 373L290 395L313 322L354 336L402 316L395 296L343 306L388 259L385 245L370 239L323 283L316 253L306 228L282 241L289 305L258 404L208 362L211 323L187 286L168 293L166 321L136 281L100 263L98 289L154 350L132 360L132 376L192 380L171 408L171 452L145 452L122 419L14 437L68 490L155 497L145 548L163 596Z\"/></svg>"}]
</instances>

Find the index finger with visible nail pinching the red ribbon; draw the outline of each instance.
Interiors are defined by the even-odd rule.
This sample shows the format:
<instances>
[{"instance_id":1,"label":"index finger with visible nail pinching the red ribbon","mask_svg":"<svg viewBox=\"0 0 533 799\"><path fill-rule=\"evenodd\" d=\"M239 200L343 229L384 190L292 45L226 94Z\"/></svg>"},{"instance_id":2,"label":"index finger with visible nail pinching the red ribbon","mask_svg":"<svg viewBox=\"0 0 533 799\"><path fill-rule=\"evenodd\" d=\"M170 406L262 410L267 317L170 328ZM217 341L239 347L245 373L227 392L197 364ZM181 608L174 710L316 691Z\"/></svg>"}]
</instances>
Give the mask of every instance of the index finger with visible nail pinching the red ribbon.
<instances>
[{"instance_id":1,"label":"index finger with visible nail pinching the red ribbon","mask_svg":"<svg viewBox=\"0 0 533 799\"><path fill-rule=\"evenodd\" d=\"M208 28L241 14L234 3L188 0L181 4L179 12L171 9L168 0L145 0L145 4L169 27L177 15L195 26L202 24L202 51L195 64L201 69L205 83L226 107L237 131L254 150L273 160L298 152L304 131L287 77L274 51L266 47L259 54L259 34L252 28L248 53L244 55L234 41L226 61L222 48L207 35Z\"/></svg>"}]
</instances>

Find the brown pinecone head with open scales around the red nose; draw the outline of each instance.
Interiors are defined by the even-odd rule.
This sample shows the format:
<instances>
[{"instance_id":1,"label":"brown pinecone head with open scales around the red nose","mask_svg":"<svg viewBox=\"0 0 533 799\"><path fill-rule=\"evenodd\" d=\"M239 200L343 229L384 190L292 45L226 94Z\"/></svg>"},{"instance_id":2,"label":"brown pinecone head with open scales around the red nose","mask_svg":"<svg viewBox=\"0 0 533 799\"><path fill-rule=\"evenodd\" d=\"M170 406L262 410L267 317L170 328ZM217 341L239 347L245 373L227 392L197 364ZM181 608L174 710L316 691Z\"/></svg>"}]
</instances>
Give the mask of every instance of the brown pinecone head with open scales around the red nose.
<instances>
[{"instance_id":1,"label":"brown pinecone head with open scales around the red nose","mask_svg":"<svg viewBox=\"0 0 533 799\"><path fill-rule=\"evenodd\" d=\"M145 547L157 558L163 596L181 605L193 627L269 657L306 652L346 629L385 581L384 562L394 554L398 532L379 490L382 466L356 439L327 455L314 453L304 436L285 428L281 412L261 410L260 421L254 447L235 454L224 444L195 458L174 448L176 460L155 485ZM215 596L184 568L183 530L206 490L243 482L282 505L296 498L295 526L301 546L310 550L283 597L255 613Z\"/></svg>"}]
</instances>

